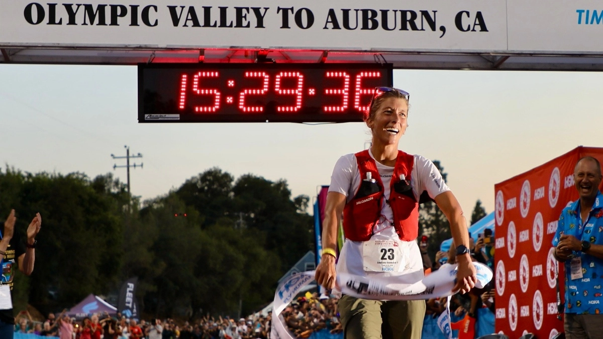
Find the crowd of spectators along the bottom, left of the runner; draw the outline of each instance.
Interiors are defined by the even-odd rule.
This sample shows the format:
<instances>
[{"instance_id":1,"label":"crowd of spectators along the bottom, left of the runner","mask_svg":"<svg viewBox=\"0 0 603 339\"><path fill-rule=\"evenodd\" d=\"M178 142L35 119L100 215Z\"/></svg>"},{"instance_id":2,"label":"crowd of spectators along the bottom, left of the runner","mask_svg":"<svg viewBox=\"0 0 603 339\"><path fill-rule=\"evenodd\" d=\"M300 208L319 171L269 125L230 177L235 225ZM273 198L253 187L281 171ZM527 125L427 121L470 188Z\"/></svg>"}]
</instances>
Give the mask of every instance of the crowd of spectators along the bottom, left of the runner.
<instances>
[{"instance_id":1,"label":"crowd of spectators along the bottom, left of the runner","mask_svg":"<svg viewBox=\"0 0 603 339\"><path fill-rule=\"evenodd\" d=\"M286 324L298 338L308 338L312 332L327 329L332 334L343 331L337 313L337 300L332 297L307 293L283 311ZM204 317L195 323L177 323L173 319L127 319L119 314L93 314L81 321L69 318L63 312L55 317L49 314L44 322L34 321L27 312L17 315L15 332L42 337L70 339L268 339L272 312L254 314L247 318ZM119 318L119 320L117 320ZM69 326L71 325L71 326Z\"/></svg>"}]
</instances>

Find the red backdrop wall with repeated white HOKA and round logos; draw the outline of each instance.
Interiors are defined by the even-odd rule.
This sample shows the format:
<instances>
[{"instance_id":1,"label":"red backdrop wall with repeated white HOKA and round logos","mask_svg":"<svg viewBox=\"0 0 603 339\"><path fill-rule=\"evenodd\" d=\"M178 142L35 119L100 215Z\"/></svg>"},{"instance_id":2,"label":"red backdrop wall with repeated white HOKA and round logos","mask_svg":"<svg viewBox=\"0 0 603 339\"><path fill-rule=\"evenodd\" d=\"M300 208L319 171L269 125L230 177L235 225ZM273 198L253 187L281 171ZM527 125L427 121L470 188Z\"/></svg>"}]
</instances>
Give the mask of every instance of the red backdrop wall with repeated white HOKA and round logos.
<instances>
[{"instance_id":1,"label":"red backdrop wall with repeated white HOKA and round logos","mask_svg":"<svg viewBox=\"0 0 603 339\"><path fill-rule=\"evenodd\" d=\"M494 185L496 227L496 332L549 338L563 332L557 312L558 267L551 241L563 208L578 198L573 170L578 159L603 162L603 148L578 147L519 176Z\"/></svg>"}]
</instances>

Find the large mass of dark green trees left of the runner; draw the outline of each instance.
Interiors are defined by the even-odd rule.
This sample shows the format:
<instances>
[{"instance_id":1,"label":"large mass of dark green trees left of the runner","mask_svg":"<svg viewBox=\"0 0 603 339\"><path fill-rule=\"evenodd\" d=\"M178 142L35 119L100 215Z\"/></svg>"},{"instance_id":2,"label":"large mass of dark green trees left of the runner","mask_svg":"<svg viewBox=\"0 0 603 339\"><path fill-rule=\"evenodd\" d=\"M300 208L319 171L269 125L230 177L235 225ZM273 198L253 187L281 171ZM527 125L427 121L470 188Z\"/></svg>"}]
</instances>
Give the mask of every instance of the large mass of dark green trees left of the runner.
<instances>
[{"instance_id":1,"label":"large mass of dark green trees left of the runner","mask_svg":"<svg viewBox=\"0 0 603 339\"><path fill-rule=\"evenodd\" d=\"M16 277L16 309L71 308L89 293L117 294L135 276L149 316L248 314L313 248L309 198L253 174L235 182L211 168L141 209L111 174L7 168L0 192L0 213L16 209L17 232L36 212L43 221L34 272Z\"/></svg>"}]
</instances>

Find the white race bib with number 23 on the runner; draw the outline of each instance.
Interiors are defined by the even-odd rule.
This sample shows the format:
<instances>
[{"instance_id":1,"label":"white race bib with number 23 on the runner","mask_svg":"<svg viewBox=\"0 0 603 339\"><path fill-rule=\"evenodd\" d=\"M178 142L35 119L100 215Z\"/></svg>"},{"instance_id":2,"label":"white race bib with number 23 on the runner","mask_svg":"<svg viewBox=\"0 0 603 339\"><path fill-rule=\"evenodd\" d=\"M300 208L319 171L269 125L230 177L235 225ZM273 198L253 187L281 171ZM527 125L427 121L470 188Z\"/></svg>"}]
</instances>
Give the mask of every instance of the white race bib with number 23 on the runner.
<instances>
[{"instance_id":1,"label":"white race bib with number 23 on the runner","mask_svg":"<svg viewBox=\"0 0 603 339\"><path fill-rule=\"evenodd\" d=\"M402 247L395 239L365 241L362 250L366 272L399 272L406 265Z\"/></svg>"}]
</instances>

